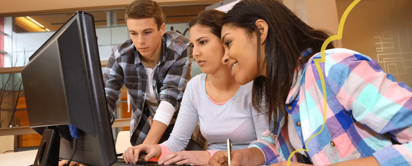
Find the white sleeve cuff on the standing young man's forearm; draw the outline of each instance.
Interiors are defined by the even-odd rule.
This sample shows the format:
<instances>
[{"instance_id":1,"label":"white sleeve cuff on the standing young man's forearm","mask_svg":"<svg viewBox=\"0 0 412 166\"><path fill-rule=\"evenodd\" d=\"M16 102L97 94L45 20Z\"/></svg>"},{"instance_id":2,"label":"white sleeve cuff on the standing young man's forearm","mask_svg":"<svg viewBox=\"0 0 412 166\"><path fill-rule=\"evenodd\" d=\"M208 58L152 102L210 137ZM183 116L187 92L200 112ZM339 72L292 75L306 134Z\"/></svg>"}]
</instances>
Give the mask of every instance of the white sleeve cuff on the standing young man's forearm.
<instances>
[{"instance_id":1,"label":"white sleeve cuff on the standing young man's forearm","mask_svg":"<svg viewBox=\"0 0 412 166\"><path fill-rule=\"evenodd\" d=\"M175 111L176 110L172 104L162 100L159 104L159 107L156 110L156 114L155 117L153 117L153 120L162 122L169 126L169 123L172 120Z\"/></svg>"}]
</instances>

